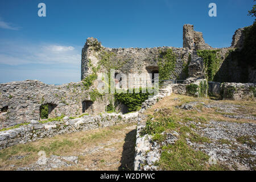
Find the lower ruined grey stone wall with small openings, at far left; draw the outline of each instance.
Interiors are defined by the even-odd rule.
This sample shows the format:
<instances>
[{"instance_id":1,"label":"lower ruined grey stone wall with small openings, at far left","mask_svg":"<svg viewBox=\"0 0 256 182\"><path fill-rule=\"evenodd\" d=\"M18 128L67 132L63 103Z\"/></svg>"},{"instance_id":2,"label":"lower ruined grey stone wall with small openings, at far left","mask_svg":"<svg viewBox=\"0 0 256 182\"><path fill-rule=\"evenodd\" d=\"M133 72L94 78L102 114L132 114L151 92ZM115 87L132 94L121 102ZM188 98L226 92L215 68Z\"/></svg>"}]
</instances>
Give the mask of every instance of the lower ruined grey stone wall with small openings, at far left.
<instances>
[{"instance_id":1,"label":"lower ruined grey stone wall with small openings, at far left","mask_svg":"<svg viewBox=\"0 0 256 182\"><path fill-rule=\"evenodd\" d=\"M40 119L40 106L50 104L49 118L82 113L82 102L91 100L90 92L82 82L47 85L36 80L0 84L0 128ZM93 102L86 113L97 114L109 104L105 94Z\"/></svg>"}]
</instances>

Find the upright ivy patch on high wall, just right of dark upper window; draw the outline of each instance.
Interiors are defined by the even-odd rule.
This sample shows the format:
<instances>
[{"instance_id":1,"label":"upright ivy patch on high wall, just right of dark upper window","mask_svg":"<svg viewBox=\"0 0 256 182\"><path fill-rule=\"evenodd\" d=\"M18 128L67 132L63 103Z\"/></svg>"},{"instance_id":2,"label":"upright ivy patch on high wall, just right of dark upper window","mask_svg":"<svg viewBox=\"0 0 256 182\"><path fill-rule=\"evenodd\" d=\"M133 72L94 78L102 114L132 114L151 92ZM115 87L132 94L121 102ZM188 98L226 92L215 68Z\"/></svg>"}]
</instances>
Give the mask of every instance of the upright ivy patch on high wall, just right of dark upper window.
<instances>
[{"instance_id":1,"label":"upright ivy patch on high wall, just right of dark upper window","mask_svg":"<svg viewBox=\"0 0 256 182\"><path fill-rule=\"evenodd\" d=\"M171 48L159 52L158 69L159 79L168 80L175 74L176 55Z\"/></svg>"}]
</instances>

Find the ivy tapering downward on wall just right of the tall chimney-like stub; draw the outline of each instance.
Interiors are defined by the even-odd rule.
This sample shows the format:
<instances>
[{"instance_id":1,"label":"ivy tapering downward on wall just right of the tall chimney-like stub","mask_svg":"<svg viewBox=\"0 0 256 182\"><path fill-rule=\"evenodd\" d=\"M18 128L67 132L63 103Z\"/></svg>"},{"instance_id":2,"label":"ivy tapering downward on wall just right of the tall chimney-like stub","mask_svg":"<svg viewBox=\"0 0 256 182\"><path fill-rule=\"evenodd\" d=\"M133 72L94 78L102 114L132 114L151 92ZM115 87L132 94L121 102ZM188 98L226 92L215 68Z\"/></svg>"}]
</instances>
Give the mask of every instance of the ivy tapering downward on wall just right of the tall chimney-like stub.
<instances>
[{"instance_id":1,"label":"ivy tapering downward on wall just right of the tall chimney-like stub","mask_svg":"<svg viewBox=\"0 0 256 182\"><path fill-rule=\"evenodd\" d=\"M219 51L220 50L197 50L197 55L203 58L208 81L213 81L218 69L220 69L221 59L218 56Z\"/></svg>"}]
</instances>

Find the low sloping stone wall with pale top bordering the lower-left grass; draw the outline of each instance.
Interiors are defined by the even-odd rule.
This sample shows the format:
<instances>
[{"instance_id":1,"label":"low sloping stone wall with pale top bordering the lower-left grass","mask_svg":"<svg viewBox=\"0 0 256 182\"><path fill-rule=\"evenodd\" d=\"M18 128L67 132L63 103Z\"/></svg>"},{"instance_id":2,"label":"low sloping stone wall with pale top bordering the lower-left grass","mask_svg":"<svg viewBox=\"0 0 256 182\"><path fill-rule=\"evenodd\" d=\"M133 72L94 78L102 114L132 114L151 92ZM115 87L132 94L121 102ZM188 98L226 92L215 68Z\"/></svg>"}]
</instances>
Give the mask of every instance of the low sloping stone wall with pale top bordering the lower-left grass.
<instances>
[{"instance_id":1,"label":"low sloping stone wall with pale top bordering the lower-left grass","mask_svg":"<svg viewBox=\"0 0 256 182\"><path fill-rule=\"evenodd\" d=\"M123 123L137 122L138 112L129 114L102 114L96 116L84 116L82 118L69 119L64 117L63 121L52 121L39 123L32 120L31 124L21 126L17 129L0 132L0 150L14 146L19 143L27 143L53 137L63 133L72 133L81 130L97 129L101 127L113 126Z\"/></svg>"}]
</instances>

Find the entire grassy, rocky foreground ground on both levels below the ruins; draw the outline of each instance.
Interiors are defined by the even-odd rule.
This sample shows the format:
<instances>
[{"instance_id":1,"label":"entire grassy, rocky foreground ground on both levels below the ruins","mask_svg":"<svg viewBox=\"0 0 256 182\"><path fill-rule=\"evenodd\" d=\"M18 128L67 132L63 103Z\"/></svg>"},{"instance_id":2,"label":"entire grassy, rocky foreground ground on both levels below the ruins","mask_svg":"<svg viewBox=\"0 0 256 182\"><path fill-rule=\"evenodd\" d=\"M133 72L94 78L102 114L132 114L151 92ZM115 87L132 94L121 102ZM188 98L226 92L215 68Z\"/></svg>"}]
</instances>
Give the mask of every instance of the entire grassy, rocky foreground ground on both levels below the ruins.
<instances>
[{"instance_id":1,"label":"entire grassy, rocky foreground ground on both levels below the ruins","mask_svg":"<svg viewBox=\"0 0 256 182\"><path fill-rule=\"evenodd\" d=\"M135 152L135 169L255 170L255 101L177 94L150 101L138 126L78 131L1 150L0 170L133 170Z\"/></svg>"}]
</instances>

